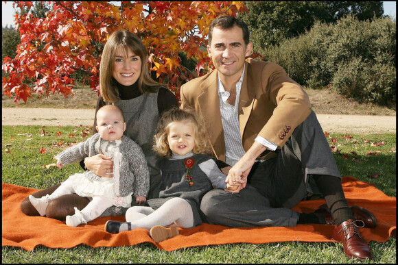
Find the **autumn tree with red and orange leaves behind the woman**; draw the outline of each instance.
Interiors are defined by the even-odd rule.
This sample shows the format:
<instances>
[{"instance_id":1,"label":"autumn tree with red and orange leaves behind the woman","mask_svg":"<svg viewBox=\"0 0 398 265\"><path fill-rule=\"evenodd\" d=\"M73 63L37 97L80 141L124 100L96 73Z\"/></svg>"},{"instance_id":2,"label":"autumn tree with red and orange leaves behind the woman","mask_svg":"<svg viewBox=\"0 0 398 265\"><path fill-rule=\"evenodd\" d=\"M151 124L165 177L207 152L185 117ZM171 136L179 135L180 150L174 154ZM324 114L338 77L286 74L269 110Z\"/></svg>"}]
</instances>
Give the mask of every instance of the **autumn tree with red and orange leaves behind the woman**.
<instances>
[{"instance_id":1,"label":"autumn tree with red and orange leaves behind the woman","mask_svg":"<svg viewBox=\"0 0 398 265\"><path fill-rule=\"evenodd\" d=\"M45 18L16 14L21 44L15 58L4 58L3 94L15 95L15 102L27 101L32 92L61 92L73 95L73 73L83 71L84 81L99 93L102 48L117 29L128 29L141 38L150 54L148 67L158 81L167 84L179 98L182 84L211 70L207 34L211 21L220 14L236 16L247 12L243 2L56 1ZM32 1L15 1L14 8L31 8ZM192 72L180 64L178 52L196 60ZM202 71L201 71L202 70Z\"/></svg>"}]
</instances>

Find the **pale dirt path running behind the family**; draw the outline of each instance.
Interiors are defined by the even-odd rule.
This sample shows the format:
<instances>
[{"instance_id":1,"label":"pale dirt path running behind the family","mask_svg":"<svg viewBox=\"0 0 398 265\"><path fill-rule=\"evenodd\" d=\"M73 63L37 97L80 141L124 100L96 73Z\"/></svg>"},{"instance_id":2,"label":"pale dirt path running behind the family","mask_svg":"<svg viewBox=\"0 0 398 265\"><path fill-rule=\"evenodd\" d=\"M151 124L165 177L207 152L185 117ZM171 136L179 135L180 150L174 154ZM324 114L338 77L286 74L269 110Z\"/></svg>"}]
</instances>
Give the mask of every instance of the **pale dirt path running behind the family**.
<instances>
[{"instance_id":1,"label":"pale dirt path running behind the family","mask_svg":"<svg viewBox=\"0 0 398 265\"><path fill-rule=\"evenodd\" d=\"M2 125L93 125L95 110L2 108ZM317 114L320 125L329 133L395 133L396 116L358 116Z\"/></svg>"}]
</instances>

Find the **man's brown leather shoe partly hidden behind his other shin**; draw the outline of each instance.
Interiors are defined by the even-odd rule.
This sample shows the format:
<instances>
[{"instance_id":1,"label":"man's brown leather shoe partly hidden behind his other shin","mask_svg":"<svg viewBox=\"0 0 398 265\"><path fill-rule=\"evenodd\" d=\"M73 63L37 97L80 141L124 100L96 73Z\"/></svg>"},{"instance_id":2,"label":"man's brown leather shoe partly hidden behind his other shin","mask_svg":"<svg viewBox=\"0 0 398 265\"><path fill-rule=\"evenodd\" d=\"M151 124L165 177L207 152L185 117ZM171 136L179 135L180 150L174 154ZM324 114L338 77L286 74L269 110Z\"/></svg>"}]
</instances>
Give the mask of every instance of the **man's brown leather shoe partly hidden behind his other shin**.
<instances>
[{"instance_id":1,"label":"man's brown leather shoe partly hidden behind his other shin","mask_svg":"<svg viewBox=\"0 0 398 265\"><path fill-rule=\"evenodd\" d=\"M350 209L351 212L353 213L355 220L362 220L365 228L376 227L377 219L371 212L369 212L363 207L356 205L350 206ZM314 213L322 214L323 217L325 218L326 225L336 225L336 223L334 223L333 218L331 217L331 212L329 210L329 207L327 207L326 203L320 205L318 209L315 210Z\"/></svg>"}]
</instances>

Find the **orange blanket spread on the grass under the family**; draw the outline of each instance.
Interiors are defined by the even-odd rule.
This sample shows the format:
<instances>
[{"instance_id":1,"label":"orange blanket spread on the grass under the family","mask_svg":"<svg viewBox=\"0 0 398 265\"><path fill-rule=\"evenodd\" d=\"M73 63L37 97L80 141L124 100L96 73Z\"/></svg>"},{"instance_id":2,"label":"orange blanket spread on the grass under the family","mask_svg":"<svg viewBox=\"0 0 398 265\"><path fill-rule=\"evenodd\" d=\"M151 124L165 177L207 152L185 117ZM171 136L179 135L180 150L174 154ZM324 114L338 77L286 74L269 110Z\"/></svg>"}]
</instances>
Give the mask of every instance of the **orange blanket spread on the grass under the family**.
<instances>
[{"instance_id":1,"label":"orange blanket spread on the grass under the family","mask_svg":"<svg viewBox=\"0 0 398 265\"><path fill-rule=\"evenodd\" d=\"M349 205L360 205L373 212L378 225L374 229L360 229L369 242L385 242L395 236L396 198L388 197L371 184L344 177L342 186ZM22 247L32 250L38 245L49 248L71 248L78 244L91 247L119 247L150 242L159 249L173 251L185 247L229 244L229 243L269 243L282 241L333 242L331 225L297 225L296 227L239 227L229 228L220 225L203 224L191 229L180 229L180 235L156 244L148 230L134 229L119 234L104 231L106 220L125 221L124 216L102 217L87 225L68 227L65 222L41 216L25 216L20 203L35 189L2 184L2 230L3 246ZM303 201L293 210L313 212L324 200Z\"/></svg>"}]
</instances>

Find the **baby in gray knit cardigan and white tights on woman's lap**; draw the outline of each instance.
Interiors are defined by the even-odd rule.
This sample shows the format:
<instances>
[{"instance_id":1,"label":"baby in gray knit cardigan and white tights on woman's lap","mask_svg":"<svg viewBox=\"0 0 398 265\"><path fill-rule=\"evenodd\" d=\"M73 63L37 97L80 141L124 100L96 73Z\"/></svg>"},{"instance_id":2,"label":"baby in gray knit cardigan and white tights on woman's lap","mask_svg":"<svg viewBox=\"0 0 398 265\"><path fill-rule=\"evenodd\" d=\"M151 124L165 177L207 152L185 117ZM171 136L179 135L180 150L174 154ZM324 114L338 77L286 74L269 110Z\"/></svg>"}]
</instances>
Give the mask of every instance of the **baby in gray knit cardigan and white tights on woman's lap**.
<instances>
[{"instance_id":1,"label":"baby in gray knit cardigan and white tights on woman's lap","mask_svg":"<svg viewBox=\"0 0 398 265\"><path fill-rule=\"evenodd\" d=\"M40 216L45 216L49 201L72 193L92 198L83 210L75 207L75 214L66 216L67 225L72 227L94 220L113 205L130 207L133 193L138 204L145 202L150 186L148 166L141 147L123 134L126 123L121 110L115 105L100 108L97 111L96 129L98 133L85 142L58 154L57 166L62 168L102 153L113 157L113 173L109 173L109 177L99 177L91 171L77 173L71 175L51 195L41 198L30 195L30 202Z\"/></svg>"}]
</instances>

